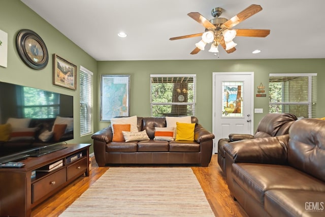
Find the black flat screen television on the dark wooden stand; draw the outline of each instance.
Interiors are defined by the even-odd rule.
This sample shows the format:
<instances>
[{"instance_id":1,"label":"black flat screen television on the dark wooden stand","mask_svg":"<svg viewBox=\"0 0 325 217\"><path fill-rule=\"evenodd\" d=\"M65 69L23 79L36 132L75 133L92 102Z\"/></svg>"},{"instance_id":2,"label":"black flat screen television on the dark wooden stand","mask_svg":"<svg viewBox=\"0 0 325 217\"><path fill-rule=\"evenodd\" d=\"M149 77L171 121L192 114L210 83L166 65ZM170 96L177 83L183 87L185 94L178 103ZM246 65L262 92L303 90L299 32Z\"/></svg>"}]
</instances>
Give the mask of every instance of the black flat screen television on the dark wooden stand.
<instances>
[{"instance_id":1,"label":"black flat screen television on the dark wooden stand","mask_svg":"<svg viewBox=\"0 0 325 217\"><path fill-rule=\"evenodd\" d=\"M73 138L73 96L0 81L0 163L62 149Z\"/></svg>"}]
</instances>

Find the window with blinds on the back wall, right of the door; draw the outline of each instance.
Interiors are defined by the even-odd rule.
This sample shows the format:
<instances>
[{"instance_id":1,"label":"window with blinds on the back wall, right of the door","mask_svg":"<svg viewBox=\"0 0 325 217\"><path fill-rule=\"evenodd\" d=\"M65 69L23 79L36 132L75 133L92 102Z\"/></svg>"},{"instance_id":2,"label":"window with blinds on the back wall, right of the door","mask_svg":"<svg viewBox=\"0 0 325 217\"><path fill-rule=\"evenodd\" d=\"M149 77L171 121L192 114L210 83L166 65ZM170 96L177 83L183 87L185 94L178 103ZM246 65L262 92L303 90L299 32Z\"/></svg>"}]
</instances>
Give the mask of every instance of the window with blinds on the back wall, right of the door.
<instances>
[{"instance_id":1,"label":"window with blinds on the back wall, right of the door","mask_svg":"<svg viewBox=\"0 0 325 217\"><path fill-rule=\"evenodd\" d=\"M269 113L316 116L317 74L270 74Z\"/></svg>"}]
</instances>

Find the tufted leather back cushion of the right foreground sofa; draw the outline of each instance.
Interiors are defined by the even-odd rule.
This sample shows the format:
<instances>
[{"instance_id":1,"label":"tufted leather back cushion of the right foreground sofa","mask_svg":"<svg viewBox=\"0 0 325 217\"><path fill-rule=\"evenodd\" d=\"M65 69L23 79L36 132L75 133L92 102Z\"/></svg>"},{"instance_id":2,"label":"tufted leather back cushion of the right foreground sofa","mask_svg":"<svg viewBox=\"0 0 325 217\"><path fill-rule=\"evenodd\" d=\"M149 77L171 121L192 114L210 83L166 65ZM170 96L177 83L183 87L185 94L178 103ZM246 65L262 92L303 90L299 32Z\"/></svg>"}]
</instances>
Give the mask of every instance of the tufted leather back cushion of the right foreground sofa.
<instances>
[{"instance_id":1,"label":"tufted leather back cushion of the right foreground sofa","mask_svg":"<svg viewBox=\"0 0 325 217\"><path fill-rule=\"evenodd\" d=\"M300 119L291 125L289 136L289 164L325 181L325 121Z\"/></svg>"}]
</instances>

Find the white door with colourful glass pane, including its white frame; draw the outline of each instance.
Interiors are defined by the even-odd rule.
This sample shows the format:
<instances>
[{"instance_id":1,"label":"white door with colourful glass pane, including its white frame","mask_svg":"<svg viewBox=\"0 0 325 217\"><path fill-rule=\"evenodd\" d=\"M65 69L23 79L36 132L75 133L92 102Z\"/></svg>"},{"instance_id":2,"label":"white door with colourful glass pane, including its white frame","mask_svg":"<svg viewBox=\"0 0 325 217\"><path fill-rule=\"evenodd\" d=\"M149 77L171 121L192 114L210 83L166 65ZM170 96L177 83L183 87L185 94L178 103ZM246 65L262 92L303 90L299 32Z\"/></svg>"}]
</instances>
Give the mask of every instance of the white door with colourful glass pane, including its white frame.
<instances>
[{"instance_id":1,"label":"white door with colourful glass pane, including its white frame","mask_svg":"<svg viewBox=\"0 0 325 217\"><path fill-rule=\"evenodd\" d=\"M254 73L213 73L213 153L231 133L253 134Z\"/></svg>"}]
</instances>

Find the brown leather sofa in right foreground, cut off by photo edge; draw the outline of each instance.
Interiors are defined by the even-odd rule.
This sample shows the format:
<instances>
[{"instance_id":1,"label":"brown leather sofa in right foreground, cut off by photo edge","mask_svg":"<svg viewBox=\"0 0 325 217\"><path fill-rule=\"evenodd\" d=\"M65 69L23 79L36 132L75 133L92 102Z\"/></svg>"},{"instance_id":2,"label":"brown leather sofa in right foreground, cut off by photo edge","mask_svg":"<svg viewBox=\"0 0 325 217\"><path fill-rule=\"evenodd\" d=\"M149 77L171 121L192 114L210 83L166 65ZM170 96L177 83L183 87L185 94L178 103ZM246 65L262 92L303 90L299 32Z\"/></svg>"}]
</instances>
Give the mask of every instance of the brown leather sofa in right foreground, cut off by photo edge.
<instances>
[{"instance_id":1,"label":"brown leather sofa in right foreground, cut off by photo edge","mask_svg":"<svg viewBox=\"0 0 325 217\"><path fill-rule=\"evenodd\" d=\"M224 145L226 180L249 216L325 216L325 121ZM231 175L229 175L231 174Z\"/></svg>"}]
</instances>

